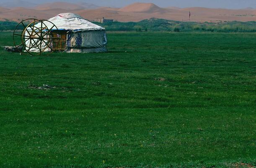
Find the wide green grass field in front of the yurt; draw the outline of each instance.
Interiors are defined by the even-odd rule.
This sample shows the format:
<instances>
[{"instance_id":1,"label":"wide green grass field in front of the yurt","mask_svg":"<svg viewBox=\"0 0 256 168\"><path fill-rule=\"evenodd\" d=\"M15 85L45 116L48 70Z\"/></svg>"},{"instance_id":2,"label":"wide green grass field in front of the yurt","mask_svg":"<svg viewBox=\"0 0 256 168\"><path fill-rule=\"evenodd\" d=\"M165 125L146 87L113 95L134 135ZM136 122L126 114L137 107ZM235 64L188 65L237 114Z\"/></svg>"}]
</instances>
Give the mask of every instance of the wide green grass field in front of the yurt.
<instances>
[{"instance_id":1,"label":"wide green grass field in front of the yurt","mask_svg":"<svg viewBox=\"0 0 256 168\"><path fill-rule=\"evenodd\" d=\"M256 165L256 33L108 39L108 53L0 49L1 168Z\"/></svg>"}]
</instances>

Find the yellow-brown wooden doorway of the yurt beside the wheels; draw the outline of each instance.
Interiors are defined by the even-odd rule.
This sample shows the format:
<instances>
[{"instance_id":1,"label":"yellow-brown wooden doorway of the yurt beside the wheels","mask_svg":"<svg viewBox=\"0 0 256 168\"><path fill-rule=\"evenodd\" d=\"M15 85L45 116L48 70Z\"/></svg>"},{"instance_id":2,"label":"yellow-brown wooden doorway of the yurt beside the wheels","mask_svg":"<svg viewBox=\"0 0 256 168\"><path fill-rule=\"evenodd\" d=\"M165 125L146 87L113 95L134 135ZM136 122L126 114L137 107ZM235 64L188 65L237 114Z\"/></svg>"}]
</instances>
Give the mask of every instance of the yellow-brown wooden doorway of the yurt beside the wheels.
<instances>
[{"instance_id":1,"label":"yellow-brown wooden doorway of the yurt beside the wheels","mask_svg":"<svg viewBox=\"0 0 256 168\"><path fill-rule=\"evenodd\" d=\"M53 37L53 50L57 51L65 51L66 50L66 38L67 32L66 31L52 31ZM59 44L58 44L59 42Z\"/></svg>"}]
</instances>

